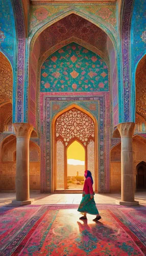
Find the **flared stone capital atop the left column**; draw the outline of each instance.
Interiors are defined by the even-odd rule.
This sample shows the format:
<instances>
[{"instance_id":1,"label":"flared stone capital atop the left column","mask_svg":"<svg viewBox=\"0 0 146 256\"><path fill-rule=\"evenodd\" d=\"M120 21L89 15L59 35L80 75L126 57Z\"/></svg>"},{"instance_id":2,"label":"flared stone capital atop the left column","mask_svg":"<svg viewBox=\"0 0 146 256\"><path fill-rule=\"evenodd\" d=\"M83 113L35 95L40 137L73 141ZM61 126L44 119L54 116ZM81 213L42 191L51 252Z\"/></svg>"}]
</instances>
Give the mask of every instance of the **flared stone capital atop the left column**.
<instances>
[{"instance_id":1,"label":"flared stone capital atop the left column","mask_svg":"<svg viewBox=\"0 0 146 256\"><path fill-rule=\"evenodd\" d=\"M16 137L30 138L33 131L33 125L30 123L13 123Z\"/></svg>"}]
</instances>

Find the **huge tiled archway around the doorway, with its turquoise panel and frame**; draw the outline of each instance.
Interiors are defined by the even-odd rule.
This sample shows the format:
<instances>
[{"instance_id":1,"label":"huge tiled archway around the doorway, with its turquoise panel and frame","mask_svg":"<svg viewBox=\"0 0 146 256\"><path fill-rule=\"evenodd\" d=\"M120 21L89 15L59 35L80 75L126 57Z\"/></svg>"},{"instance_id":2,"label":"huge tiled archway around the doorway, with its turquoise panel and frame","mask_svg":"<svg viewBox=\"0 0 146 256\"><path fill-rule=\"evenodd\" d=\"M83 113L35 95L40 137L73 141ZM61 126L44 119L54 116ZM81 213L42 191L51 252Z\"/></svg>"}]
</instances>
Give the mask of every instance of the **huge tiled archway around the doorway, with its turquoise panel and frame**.
<instances>
[{"instance_id":1,"label":"huge tiled archway around the doorway, with its turquoise panel and frame","mask_svg":"<svg viewBox=\"0 0 146 256\"><path fill-rule=\"evenodd\" d=\"M35 40L32 40L34 44L31 43L30 52L29 122L38 129L41 140L41 192L50 193L56 189L54 182L56 177L53 175L52 165L54 153L50 138L52 119L67 105L76 104L76 102L83 109L91 112L100 124L99 147L96 148L99 152L99 162L96 163L99 168L99 177L96 183L100 193L107 192L109 191L110 94L112 94L110 84L114 85L115 111L113 114L117 116L115 120L118 120L116 55L112 40L101 28L73 13L62 17L56 23L47 25ZM92 34L95 36L92 37ZM82 61L83 55L86 65ZM80 65L79 62L81 62ZM62 69L61 65L64 65ZM72 68L69 72L66 65L74 69ZM66 68L68 70L65 70ZM90 78L86 79L87 76ZM61 142L58 143L61 146ZM92 147L91 143L90 147ZM62 157L64 157L63 154Z\"/></svg>"}]
</instances>

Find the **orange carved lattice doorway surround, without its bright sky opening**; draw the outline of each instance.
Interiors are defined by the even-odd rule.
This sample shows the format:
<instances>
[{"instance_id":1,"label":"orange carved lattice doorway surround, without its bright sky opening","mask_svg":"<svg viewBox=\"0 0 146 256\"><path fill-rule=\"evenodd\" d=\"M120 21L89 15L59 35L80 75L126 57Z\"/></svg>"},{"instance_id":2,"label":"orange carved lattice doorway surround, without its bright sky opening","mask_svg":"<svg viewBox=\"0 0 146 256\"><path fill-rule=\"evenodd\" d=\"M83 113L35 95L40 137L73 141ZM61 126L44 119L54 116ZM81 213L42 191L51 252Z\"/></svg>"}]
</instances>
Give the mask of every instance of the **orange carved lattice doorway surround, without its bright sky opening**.
<instances>
[{"instance_id":1,"label":"orange carved lattice doorway surround, without its bright sky opening","mask_svg":"<svg viewBox=\"0 0 146 256\"><path fill-rule=\"evenodd\" d=\"M55 116L52 122L52 129L52 190L67 189L67 148L76 140L85 148L85 167L91 171L94 180L94 189L97 191L98 131L94 117L74 104Z\"/></svg>"}]
</instances>

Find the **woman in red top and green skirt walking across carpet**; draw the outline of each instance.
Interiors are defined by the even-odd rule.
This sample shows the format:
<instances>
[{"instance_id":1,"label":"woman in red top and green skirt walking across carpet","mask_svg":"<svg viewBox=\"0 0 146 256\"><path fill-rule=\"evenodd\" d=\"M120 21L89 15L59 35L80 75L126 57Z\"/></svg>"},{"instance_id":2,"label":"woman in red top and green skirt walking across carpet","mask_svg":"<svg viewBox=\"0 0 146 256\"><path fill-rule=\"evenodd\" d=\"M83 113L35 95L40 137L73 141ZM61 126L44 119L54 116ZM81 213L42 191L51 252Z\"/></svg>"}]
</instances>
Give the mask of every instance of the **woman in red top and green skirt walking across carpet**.
<instances>
[{"instance_id":1,"label":"woman in red top and green skirt walking across carpet","mask_svg":"<svg viewBox=\"0 0 146 256\"><path fill-rule=\"evenodd\" d=\"M79 205L78 211L84 212L84 216L80 218L80 220L86 220L87 214L96 215L96 218L93 221L99 221L101 216L99 215L99 211L96 208L95 201L94 201L94 191L93 191L93 179L91 172L89 170L85 170L84 174L86 180L84 182L83 187L83 197L82 201Z\"/></svg>"}]
</instances>

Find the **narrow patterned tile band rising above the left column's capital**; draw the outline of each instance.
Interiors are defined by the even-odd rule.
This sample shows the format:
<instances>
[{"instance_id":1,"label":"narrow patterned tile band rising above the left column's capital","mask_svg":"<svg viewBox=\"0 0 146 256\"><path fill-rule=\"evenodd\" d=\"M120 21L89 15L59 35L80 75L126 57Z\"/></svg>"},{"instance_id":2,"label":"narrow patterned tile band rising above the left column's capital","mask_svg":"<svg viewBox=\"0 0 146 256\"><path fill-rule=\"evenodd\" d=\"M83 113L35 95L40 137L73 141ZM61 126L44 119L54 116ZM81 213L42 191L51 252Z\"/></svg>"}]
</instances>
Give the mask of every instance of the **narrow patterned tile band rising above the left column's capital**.
<instances>
[{"instance_id":1,"label":"narrow patterned tile band rising above the left column's capital","mask_svg":"<svg viewBox=\"0 0 146 256\"><path fill-rule=\"evenodd\" d=\"M25 92L25 55L26 55L26 35L25 35L25 17L23 13L22 3L19 0L11 1L15 10L15 26L17 34L16 44L16 68L14 75L16 76L16 88L14 87L13 97L13 120L14 122L23 122L25 120L25 112L23 106L26 104ZM26 72L27 73L27 72ZM15 81L14 81L15 82ZM16 95L15 95L16 93Z\"/></svg>"}]
</instances>

